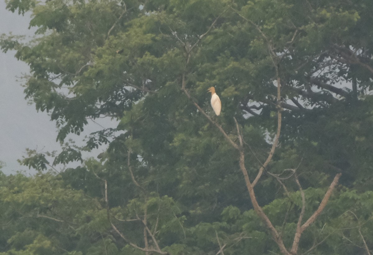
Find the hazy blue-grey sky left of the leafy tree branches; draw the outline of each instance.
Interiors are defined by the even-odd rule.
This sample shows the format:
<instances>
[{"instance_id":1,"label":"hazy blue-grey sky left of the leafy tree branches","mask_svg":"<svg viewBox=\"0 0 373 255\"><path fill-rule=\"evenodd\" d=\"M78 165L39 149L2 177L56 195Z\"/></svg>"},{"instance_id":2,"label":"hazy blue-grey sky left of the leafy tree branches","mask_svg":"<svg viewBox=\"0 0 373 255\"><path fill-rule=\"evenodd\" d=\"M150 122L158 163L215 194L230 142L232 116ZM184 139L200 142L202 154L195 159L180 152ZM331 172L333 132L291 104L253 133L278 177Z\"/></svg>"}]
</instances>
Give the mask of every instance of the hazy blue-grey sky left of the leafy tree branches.
<instances>
[{"instance_id":1,"label":"hazy blue-grey sky left of the leafy tree branches","mask_svg":"<svg viewBox=\"0 0 373 255\"><path fill-rule=\"evenodd\" d=\"M0 34L12 32L15 35L32 36L34 29L28 29L28 13L25 16L18 15L7 11L5 7L4 0L0 0ZM0 51L0 161L6 163L1 171L6 174L17 170L34 173L28 167L20 166L17 159L25 156L25 148L58 150L57 129L46 113L38 113L35 106L29 105L24 99L22 81L17 81L20 80L17 77L28 73L29 68L25 63L17 61L14 54L14 51L6 54ZM100 124L105 127L115 125L110 120L101 120ZM90 124L85 128L85 133L98 129L101 129L98 125ZM101 151L102 149L98 149L92 155Z\"/></svg>"}]
</instances>

